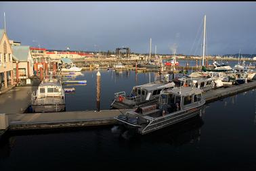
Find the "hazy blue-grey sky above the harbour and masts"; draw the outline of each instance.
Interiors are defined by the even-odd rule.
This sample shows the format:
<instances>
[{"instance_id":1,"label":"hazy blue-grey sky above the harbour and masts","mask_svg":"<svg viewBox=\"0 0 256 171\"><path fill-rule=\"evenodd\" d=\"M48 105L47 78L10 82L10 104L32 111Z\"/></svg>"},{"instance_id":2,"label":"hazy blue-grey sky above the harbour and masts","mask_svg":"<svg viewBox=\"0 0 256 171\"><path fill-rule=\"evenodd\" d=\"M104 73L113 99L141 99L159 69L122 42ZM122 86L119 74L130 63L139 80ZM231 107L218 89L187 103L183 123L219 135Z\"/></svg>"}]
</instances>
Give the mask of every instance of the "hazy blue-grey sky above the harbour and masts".
<instances>
[{"instance_id":1,"label":"hazy blue-grey sky above the harbour and masts","mask_svg":"<svg viewBox=\"0 0 256 171\"><path fill-rule=\"evenodd\" d=\"M0 28L22 45L71 51L256 53L256 2L0 2Z\"/></svg>"}]
</instances>

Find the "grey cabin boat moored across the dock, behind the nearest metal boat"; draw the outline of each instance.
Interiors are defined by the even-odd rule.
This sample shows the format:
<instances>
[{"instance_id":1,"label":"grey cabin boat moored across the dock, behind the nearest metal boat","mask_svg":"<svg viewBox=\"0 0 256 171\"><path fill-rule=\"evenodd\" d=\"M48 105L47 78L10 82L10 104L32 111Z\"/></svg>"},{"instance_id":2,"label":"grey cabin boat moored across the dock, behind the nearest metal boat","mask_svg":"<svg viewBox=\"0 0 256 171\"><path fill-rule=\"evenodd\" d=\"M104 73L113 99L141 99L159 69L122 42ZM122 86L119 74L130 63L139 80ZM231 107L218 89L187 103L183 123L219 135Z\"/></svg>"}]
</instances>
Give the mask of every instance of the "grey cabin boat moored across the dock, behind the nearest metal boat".
<instances>
[{"instance_id":1,"label":"grey cabin boat moored across the dock, behind the nearest metal boat","mask_svg":"<svg viewBox=\"0 0 256 171\"><path fill-rule=\"evenodd\" d=\"M110 106L115 109L131 109L154 104L157 103L161 91L173 89L174 87L175 83L168 80L156 80L135 86L129 95L125 91L114 93L114 101Z\"/></svg>"}]
</instances>

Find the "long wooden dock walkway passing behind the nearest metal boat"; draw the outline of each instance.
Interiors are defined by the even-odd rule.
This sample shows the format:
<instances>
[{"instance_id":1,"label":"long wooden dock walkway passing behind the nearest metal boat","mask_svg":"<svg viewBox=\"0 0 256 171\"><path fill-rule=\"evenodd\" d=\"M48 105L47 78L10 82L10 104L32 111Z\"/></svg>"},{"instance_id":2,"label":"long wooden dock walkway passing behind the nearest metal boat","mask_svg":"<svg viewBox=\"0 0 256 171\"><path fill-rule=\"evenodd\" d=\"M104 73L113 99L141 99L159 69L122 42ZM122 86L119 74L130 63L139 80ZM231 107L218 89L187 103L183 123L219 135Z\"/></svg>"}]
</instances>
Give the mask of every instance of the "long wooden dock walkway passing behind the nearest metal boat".
<instances>
[{"instance_id":1,"label":"long wooden dock walkway passing behind the nearest metal boat","mask_svg":"<svg viewBox=\"0 0 256 171\"><path fill-rule=\"evenodd\" d=\"M236 85L234 87L220 88L204 93L207 103L230 95L242 93L256 88L256 81ZM78 126L98 126L116 124L114 116L125 113L130 109L107 109L100 112L79 111L79 112L50 112L33 114L0 114L7 118L7 129L28 130L45 128L66 128ZM0 124L1 124L0 120ZM1 126L1 125L0 125ZM0 128L1 130L1 128Z\"/></svg>"}]
</instances>

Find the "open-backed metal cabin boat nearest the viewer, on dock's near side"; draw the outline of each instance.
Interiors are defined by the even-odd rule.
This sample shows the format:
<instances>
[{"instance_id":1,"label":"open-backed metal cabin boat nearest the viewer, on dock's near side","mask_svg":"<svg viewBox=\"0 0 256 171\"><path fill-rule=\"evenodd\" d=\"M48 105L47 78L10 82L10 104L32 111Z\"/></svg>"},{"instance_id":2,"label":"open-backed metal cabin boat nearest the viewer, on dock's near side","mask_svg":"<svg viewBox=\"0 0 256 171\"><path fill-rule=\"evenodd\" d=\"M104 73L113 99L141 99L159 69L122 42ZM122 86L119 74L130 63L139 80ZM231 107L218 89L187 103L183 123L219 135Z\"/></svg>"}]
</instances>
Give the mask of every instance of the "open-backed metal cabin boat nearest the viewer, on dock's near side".
<instances>
[{"instance_id":1,"label":"open-backed metal cabin boat nearest the viewer, on dock's near side","mask_svg":"<svg viewBox=\"0 0 256 171\"><path fill-rule=\"evenodd\" d=\"M204 104L202 90L180 87L163 91L157 105L137 107L114 119L125 128L145 135L198 115Z\"/></svg>"}]
</instances>

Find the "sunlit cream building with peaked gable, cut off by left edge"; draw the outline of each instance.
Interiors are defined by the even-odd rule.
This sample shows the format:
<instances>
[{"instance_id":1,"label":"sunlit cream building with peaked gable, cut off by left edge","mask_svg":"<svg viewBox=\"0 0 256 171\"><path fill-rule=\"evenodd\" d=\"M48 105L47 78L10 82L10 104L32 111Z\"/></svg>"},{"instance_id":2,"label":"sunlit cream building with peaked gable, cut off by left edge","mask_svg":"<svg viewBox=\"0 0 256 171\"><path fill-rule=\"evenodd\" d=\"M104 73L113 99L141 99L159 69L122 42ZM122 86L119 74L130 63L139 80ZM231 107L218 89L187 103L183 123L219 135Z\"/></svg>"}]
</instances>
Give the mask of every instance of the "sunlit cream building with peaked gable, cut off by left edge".
<instances>
[{"instance_id":1,"label":"sunlit cream building with peaked gable, cut off by left edge","mask_svg":"<svg viewBox=\"0 0 256 171\"><path fill-rule=\"evenodd\" d=\"M0 29L0 91L14 84L12 47L4 29Z\"/></svg>"}]
</instances>

